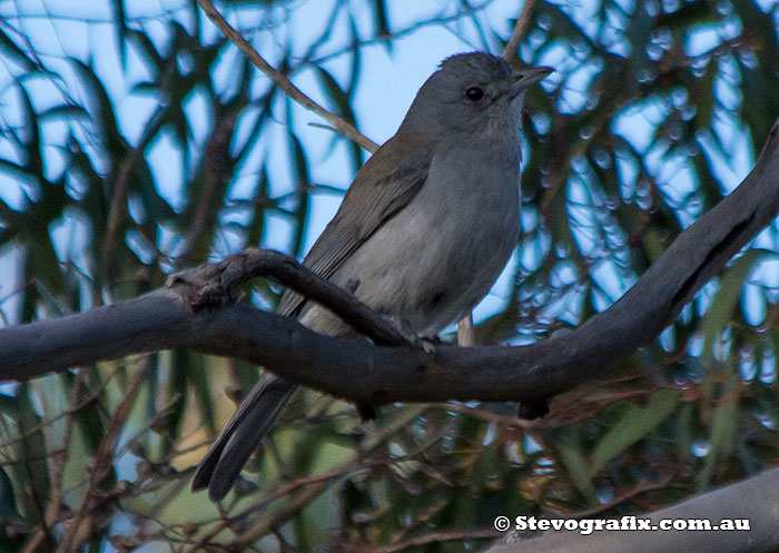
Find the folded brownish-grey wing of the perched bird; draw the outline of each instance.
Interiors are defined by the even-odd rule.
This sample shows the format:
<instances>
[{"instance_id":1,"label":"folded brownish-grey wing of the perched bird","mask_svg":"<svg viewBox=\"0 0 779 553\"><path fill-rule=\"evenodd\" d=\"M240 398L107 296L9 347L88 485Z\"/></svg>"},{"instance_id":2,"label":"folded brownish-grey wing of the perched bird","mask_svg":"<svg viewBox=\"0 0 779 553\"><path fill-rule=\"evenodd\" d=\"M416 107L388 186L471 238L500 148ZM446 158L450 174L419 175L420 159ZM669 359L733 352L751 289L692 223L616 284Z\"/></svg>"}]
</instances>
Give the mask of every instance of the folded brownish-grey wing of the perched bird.
<instances>
[{"instance_id":1,"label":"folded brownish-grey wing of the perched bird","mask_svg":"<svg viewBox=\"0 0 779 553\"><path fill-rule=\"evenodd\" d=\"M357 172L338 211L303 265L329 278L378 227L416 196L427 179L430 160L426 148L398 140L397 136L391 138ZM303 296L287 289L277 313L293 315L304 302Z\"/></svg>"}]
</instances>

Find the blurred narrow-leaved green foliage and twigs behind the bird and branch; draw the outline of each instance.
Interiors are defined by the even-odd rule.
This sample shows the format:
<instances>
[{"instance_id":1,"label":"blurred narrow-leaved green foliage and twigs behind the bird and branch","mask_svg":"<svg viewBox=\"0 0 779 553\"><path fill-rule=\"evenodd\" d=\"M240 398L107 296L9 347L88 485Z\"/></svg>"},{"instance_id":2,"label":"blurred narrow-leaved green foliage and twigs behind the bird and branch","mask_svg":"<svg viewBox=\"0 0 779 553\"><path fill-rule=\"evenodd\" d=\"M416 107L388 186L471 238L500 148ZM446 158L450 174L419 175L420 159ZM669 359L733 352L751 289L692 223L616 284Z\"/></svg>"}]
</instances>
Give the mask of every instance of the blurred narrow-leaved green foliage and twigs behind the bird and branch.
<instances>
[{"instance_id":1,"label":"blurred narrow-leaved green foliage and twigs behind the bird and branch","mask_svg":"<svg viewBox=\"0 0 779 553\"><path fill-rule=\"evenodd\" d=\"M194 2L136 3L112 0L105 17L2 7L4 324L118 302L250 245L302 256L313 206L366 158L307 126ZM513 27L490 16L497 0L411 22L388 3L223 8L358 128L366 52L392 56L431 27L461 51L500 52ZM608 307L740 181L779 115L776 2L531 13L519 57L558 72L526 101L523 234L481 343L543 339ZM321 30L294 32L306 18ZM59 46L40 47L41 32ZM97 63L99 43L114 66ZM314 177L322 164L331 181ZM352 406L300 393L221 505L189 480L233 411L225 391L248 391L254 367L175 350L7 385L0 549L463 551L497 515L644 512L759 473L779 455L778 248L775 224L655 343L542 421L513 405L397 405L361 425ZM254 285L247 298L272 307L278 288Z\"/></svg>"}]
</instances>

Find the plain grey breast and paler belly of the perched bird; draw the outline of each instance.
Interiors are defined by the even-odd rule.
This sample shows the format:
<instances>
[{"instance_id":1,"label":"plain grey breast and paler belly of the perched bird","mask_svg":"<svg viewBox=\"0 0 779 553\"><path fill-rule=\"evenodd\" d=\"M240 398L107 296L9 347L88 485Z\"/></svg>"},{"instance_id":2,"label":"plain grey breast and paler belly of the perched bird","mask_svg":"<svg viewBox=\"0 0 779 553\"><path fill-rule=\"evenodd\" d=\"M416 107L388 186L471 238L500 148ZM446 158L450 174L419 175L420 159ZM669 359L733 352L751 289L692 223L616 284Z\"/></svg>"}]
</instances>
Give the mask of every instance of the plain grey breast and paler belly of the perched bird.
<instances>
[{"instance_id":1,"label":"plain grey breast and paler belly of the perched bird","mask_svg":"<svg viewBox=\"0 0 779 553\"><path fill-rule=\"evenodd\" d=\"M417 195L334 275L422 335L473 308L516 245L519 158L473 154L434 157Z\"/></svg>"}]
</instances>

